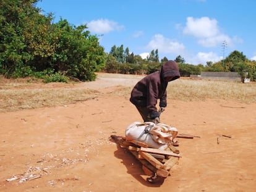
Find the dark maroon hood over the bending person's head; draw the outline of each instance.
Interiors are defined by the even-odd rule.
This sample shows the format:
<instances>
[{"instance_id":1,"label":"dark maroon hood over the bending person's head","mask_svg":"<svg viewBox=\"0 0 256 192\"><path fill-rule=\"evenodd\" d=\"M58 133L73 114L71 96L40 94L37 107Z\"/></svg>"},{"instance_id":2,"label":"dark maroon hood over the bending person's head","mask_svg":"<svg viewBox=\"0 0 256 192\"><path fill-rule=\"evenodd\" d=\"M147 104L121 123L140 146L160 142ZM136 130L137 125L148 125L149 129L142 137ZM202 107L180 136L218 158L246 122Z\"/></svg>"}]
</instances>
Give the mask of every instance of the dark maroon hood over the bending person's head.
<instances>
[{"instance_id":1,"label":"dark maroon hood over the bending person's head","mask_svg":"<svg viewBox=\"0 0 256 192\"><path fill-rule=\"evenodd\" d=\"M179 67L175 61L168 61L161 67L161 78L168 78L169 81L176 80L177 78L181 77L179 73Z\"/></svg>"}]
</instances>

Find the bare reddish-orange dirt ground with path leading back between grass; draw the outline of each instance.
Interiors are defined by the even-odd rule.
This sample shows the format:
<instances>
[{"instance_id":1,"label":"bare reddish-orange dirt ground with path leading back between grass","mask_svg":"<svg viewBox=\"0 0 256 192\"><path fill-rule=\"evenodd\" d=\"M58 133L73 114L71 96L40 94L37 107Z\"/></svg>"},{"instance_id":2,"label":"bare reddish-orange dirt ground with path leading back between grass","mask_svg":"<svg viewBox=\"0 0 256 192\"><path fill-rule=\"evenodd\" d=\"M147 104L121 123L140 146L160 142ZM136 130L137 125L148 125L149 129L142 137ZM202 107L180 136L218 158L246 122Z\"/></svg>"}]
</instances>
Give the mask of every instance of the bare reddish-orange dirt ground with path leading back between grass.
<instances>
[{"instance_id":1,"label":"bare reddish-orange dirt ground with path leading back between grass","mask_svg":"<svg viewBox=\"0 0 256 192\"><path fill-rule=\"evenodd\" d=\"M153 185L110 139L142 121L129 99L111 94L118 85L124 81L99 78L77 85L100 91L95 99L0 113L0 191L256 190L256 104L168 98L161 122L200 138L177 138L179 164ZM22 180L26 174L31 180Z\"/></svg>"}]
</instances>

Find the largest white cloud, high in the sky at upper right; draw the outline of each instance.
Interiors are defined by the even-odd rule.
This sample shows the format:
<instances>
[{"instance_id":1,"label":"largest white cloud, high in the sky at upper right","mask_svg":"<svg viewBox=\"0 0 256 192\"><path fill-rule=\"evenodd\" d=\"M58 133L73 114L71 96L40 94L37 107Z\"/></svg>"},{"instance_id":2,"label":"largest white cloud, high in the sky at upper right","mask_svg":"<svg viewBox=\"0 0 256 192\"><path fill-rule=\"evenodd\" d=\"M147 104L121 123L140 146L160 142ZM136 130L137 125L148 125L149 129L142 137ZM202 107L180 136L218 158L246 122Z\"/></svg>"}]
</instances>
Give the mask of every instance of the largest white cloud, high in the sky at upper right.
<instances>
[{"instance_id":1,"label":"largest white cloud, high in the sky at upper right","mask_svg":"<svg viewBox=\"0 0 256 192\"><path fill-rule=\"evenodd\" d=\"M198 44L204 47L220 46L223 41L226 41L229 46L233 45L231 38L220 31L218 21L208 17L199 19L187 17L183 33L184 35L195 36L198 38Z\"/></svg>"}]
</instances>

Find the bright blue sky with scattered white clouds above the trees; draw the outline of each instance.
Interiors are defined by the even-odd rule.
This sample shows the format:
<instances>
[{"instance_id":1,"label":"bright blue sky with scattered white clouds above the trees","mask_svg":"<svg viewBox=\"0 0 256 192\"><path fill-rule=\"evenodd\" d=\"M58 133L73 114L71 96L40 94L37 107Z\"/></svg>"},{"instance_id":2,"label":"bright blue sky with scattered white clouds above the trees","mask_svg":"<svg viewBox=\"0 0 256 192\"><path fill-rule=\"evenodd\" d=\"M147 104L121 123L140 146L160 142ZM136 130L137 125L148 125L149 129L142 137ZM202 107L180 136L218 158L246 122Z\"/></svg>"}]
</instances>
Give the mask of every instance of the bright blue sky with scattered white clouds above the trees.
<instances>
[{"instance_id":1,"label":"bright blue sky with scattered white clouds above the trees","mask_svg":"<svg viewBox=\"0 0 256 192\"><path fill-rule=\"evenodd\" d=\"M86 24L109 52L123 45L142 57L158 49L160 59L181 55L188 64L217 62L237 50L256 60L254 0L41 0L75 26Z\"/></svg>"}]
</instances>

